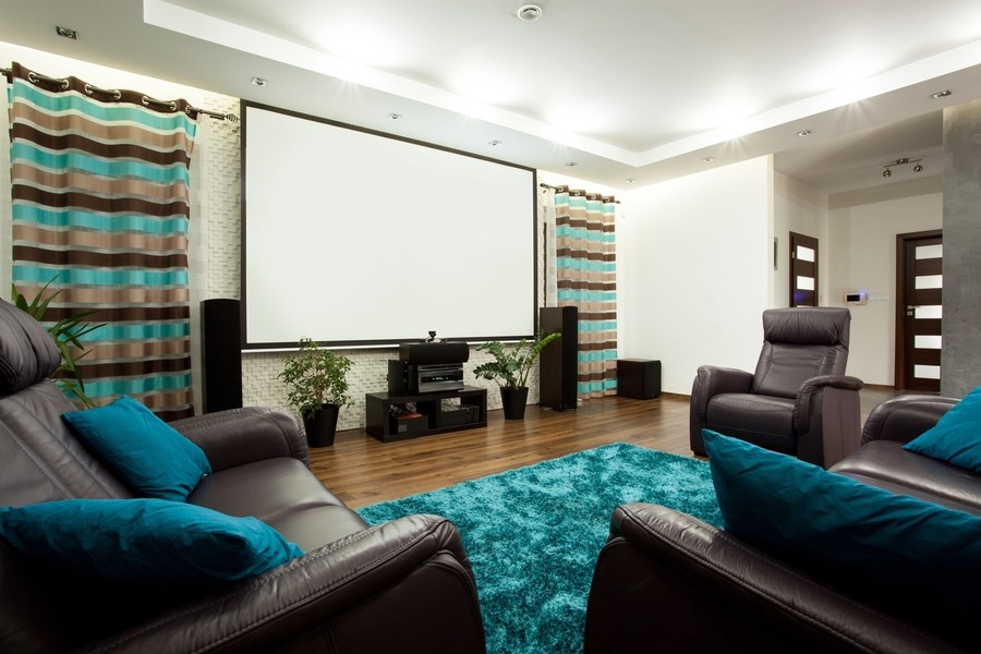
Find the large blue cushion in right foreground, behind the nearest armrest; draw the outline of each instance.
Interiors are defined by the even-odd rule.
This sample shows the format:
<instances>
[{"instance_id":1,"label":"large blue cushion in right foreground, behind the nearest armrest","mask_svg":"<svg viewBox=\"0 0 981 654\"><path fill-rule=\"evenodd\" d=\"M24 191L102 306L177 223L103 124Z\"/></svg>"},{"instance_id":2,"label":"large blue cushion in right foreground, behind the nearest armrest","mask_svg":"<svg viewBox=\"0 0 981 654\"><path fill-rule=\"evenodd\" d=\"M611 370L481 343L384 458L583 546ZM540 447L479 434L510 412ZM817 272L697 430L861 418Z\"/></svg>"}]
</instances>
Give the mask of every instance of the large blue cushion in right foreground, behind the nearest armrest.
<instances>
[{"instance_id":1,"label":"large blue cushion in right foreground, behind the nearest armrest","mask_svg":"<svg viewBox=\"0 0 981 654\"><path fill-rule=\"evenodd\" d=\"M727 531L858 586L937 606L961 591L981 601L981 518L710 429L703 437Z\"/></svg>"}]
</instances>

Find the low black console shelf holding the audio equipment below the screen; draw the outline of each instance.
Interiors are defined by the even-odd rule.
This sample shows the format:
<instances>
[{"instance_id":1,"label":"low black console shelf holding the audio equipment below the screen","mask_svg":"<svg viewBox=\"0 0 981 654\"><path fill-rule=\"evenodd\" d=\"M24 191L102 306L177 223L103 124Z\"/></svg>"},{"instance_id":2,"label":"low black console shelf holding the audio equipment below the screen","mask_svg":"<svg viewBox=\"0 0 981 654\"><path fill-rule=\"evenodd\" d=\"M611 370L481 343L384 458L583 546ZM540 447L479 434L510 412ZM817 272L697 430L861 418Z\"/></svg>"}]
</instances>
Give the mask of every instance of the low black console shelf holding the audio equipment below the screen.
<instances>
[{"instance_id":1,"label":"low black console shelf holding the audio equipment below the screen","mask_svg":"<svg viewBox=\"0 0 981 654\"><path fill-rule=\"evenodd\" d=\"M460 408L446 410L444 400L456 399L459 399ZM391 408L409 403L415 404L421 417L399 421ZM487 389L464 386L460 390L405 396L370 392L364 396L364 414L365 431L383 443L486 427Z\"/></svg>"}]
</instances>

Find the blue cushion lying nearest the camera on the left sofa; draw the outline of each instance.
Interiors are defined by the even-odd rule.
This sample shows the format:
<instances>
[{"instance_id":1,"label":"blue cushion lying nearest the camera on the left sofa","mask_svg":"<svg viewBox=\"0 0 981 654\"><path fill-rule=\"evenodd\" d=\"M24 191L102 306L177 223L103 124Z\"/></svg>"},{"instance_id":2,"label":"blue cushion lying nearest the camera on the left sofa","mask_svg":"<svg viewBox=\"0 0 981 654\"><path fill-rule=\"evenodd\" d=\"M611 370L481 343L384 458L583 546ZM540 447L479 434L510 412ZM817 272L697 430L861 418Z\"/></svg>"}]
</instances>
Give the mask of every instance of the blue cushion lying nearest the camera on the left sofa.
<instances>
[{"instance_id":1,"label":"blue cushion lying nearest the camera on the left sofa","mask_svg":"<svg viewBox=\"0 0 981 654\"><path fill-rule=\"evenodd\" d=\"M162 499L65 499L4 507L0 535L46 566L168 589L214 588L303 554L255 518Z\"/></svg>"}]
</instances>

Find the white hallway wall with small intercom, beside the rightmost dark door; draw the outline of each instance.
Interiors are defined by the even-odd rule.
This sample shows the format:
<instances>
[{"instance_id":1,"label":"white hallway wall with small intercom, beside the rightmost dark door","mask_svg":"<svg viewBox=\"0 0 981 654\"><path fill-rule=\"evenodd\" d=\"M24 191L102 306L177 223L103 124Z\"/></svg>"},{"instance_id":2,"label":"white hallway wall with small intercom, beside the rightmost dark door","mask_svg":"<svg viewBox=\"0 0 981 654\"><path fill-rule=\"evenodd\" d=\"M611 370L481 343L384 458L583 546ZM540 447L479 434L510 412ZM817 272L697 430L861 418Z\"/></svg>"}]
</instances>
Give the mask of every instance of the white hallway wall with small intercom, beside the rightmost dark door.
<instances>
[{"instance_id":1,"label":"white hallway wall with small intercom, beside the rightmost dark door","mask_svg":"<svg viewBox=\"0 0 981 654\"><path fill-rule=\"evenodd\" d=\"M846 291L869 295L868 304L849 306L848 374L884 386L895 383L896 234L943 227L942 192L892 197L888 193L884 187L864 194L859 204L828 211L828 245L834 253L827 277L829 304L843 306Z\"/></svg>"}]
</instances>

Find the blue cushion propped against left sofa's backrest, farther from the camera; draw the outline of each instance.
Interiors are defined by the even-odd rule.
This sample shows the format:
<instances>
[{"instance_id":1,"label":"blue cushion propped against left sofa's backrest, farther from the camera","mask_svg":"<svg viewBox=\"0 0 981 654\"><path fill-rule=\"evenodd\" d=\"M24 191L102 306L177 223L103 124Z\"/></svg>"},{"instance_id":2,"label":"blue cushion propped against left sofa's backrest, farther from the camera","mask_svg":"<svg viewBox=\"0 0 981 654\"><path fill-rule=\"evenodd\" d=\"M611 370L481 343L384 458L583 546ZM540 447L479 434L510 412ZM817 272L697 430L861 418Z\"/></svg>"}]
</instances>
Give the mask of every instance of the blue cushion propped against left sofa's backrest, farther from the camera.
<instances>
[{"instance_id":1,"label":"blue cushion propped against left sofa's backrest, farther from the camera","mask_svg":"<svg viewBox=\"0 0 981 654\"><path fill-rule=\"evenodd\" d=\"M183 501L211 473L204 450L132 398L61 417L144 497Z\"/></svg>"}]
</instances>

